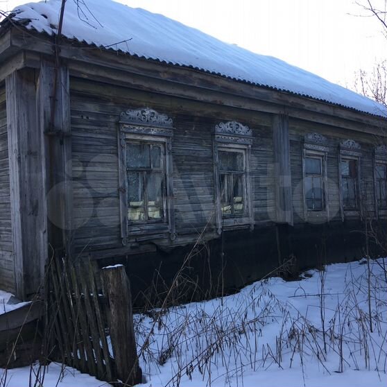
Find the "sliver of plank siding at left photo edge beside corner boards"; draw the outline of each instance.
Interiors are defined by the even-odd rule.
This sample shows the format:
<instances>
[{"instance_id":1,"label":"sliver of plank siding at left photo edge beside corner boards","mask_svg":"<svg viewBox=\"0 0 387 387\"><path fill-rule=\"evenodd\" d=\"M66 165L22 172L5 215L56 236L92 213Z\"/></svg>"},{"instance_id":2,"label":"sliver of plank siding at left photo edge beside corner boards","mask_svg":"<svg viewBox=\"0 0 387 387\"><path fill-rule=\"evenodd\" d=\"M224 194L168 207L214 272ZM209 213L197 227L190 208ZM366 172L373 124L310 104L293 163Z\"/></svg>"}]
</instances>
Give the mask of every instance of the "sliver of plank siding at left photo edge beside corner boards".
<instances>
[{"instance_id":1,"label":"sliver of plank siding at left photo edge beside corner boards","mask_svg":"<svg viewBox=\"0 0 387 387\"><path fill-rule=\"evenodd\" d=\"M0 86L0 288L15 291L10 212L6 87Z\"/></svg>"}]
</instances>

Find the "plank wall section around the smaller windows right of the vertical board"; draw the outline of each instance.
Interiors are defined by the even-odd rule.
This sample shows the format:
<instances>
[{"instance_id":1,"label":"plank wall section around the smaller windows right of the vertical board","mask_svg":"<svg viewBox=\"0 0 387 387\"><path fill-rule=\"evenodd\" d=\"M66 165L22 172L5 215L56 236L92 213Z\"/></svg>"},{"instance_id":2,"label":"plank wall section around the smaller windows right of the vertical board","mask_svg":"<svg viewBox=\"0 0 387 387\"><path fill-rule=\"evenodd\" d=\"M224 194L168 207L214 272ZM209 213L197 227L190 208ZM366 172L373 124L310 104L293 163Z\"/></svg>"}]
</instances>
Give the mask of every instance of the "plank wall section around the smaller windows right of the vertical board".
<instances>
[{"instance_id":1,"label":"plank wall section around the smaller windows right of the vertical board","mask_svg":"<svg viewBox=\"0 0 387 387\"><path fill-rule=\"evenodd\" d=\"M313 123L301 123L293 121L290 130L291 139L291 173L293 189L293 211L295 223L304 222L304 196L302 191L302 154L304 135L317 132L327 138L327 186L329 200L329 220L341 221L340 195L339 195L339 168L338 152L341 140L354 139L361 145L360 159L360 191L361 205L363 210L368 212L369 216L375 213L375 196L373 186L373 164L372 152L375 144L372 143L373 137L358 135L355 132L340 130L329 126L314 126ZM325 212L308 212L307 221L311 223L322 223L322 218L326 216ZM345 212L345 219L359 219L358 212Z\"/></svg>"}]
</instances>

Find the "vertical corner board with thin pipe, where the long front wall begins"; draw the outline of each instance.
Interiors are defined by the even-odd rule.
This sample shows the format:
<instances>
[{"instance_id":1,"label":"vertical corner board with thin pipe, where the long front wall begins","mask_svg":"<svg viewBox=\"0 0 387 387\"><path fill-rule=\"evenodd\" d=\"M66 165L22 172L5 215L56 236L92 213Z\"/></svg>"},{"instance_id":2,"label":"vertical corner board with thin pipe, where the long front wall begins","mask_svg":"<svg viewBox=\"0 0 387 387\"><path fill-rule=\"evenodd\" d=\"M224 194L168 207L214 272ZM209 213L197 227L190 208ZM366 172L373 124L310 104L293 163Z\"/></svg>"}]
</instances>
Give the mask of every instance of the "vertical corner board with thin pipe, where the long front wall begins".
<instances>
[{"instance_id":1,"label":"vertical corner board with thin pipe, where the long front wall begins","mask_svg":"<svg viewBox=\"0 0 387 387\"><path fill-rule=\"evenodd\" d=\"M55 71L58 71L57 76ZM56 87L55 79L58 83ZM49 243L54 249L65 249L67 255L71 255L73 193L67 67L60 64L55 69L54 63L42 60L37 89L40 130L46 136ZM53 107L54 98L56 101Z\"/></svg>"}]
</instances>

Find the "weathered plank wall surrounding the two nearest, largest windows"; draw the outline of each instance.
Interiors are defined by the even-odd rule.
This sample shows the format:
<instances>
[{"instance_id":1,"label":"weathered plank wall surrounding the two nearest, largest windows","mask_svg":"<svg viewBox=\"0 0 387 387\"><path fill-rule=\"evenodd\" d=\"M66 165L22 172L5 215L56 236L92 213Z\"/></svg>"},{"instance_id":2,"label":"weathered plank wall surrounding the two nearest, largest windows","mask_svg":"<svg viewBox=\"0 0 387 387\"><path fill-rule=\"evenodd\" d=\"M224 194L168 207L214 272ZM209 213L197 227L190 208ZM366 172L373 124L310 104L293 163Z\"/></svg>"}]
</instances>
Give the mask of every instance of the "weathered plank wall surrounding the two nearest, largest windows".
<instances>
[{"instance_id":1,"label":"weathered plank wall surrounding the two nearest, largest windows","mask_svg":"<svg viewBox=\"0 0 387 387\"><path fill-rule=\"evenodd\" d=\"M173 193L177 238L154 236L160 244L216 237L212 132L220 121L240 121L252 128L251 175L255 220L268 221L274 210L273 135L268 117L248 111L210 107L168 96L137 92L71 78L71 133L76 252L119 248L119 178L117 121L123 110L152 107L173 119ZM130 240L130 236L129 236ZM139 239L137 239L139 240Z\"/></svg>"}]
</instances>

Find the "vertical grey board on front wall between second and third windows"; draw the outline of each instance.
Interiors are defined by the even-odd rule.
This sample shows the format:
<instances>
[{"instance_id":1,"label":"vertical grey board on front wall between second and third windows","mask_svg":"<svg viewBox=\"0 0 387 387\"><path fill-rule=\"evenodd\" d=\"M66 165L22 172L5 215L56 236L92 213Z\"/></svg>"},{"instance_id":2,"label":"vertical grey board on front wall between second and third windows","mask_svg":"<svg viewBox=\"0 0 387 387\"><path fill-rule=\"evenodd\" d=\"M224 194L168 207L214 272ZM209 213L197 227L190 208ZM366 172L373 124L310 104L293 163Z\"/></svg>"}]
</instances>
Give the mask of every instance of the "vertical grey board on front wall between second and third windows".
<instances>
[{"instance_id":1,"label":"vertical grey board on front wall between second and third windows","mask_svg":"<svg viewBox=\"0 0 387 387\"><path fill-rule=\"evenodd\" d=\"M273 154L277 222L293 225L289 117L286 114L273 116Z\"/></svg>"}]
</instances>

